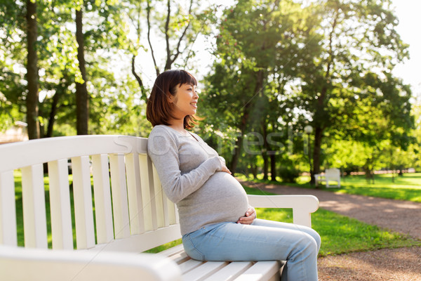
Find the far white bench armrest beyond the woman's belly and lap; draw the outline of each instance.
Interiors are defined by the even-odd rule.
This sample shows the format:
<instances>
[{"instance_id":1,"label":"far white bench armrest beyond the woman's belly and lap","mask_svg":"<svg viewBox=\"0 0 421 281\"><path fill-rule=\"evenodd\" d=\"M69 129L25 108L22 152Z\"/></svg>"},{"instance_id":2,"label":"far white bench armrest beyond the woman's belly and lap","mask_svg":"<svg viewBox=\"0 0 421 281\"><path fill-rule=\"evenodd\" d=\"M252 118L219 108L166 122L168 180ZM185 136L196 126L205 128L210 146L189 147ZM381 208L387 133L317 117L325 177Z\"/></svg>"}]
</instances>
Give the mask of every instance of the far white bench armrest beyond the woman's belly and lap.
<instances>
[{"instance_id":1,"label":"far white bench armrest beyond the woman's belly and lap","mask_svg":"<svg viewBox=\"0 0 421 281\"><path fill-rule=\"evenodd\" d=\"M319 200L313 195L248 195L255 208L293 209L294 223L312 226L312 213L319 209Z\"/></svg>"}]
</instances>

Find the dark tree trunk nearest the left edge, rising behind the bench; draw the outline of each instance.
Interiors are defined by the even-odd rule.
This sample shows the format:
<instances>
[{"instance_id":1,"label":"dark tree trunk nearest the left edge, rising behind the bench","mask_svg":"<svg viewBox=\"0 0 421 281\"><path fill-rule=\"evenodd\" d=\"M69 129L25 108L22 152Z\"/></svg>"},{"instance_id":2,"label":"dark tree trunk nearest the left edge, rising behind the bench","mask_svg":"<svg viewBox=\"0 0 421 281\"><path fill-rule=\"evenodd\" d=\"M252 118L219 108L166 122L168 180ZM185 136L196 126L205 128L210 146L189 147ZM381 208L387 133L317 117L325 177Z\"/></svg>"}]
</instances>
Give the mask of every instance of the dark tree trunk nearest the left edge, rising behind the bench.
<instances>
[{"instance_id":1,"label":"dark tree trunk nearest the left edge, rising behind the bench","mask_svg":"<svg viewBox=\"0 0 421 281\"><path fill-rule=\"evenodd\" d=\"M36 3L27 0L27 130L30 140L39 138L38 120L38 55L36 54L36 37L38 37L36 24Z\"/></svg>"}]
</instances>

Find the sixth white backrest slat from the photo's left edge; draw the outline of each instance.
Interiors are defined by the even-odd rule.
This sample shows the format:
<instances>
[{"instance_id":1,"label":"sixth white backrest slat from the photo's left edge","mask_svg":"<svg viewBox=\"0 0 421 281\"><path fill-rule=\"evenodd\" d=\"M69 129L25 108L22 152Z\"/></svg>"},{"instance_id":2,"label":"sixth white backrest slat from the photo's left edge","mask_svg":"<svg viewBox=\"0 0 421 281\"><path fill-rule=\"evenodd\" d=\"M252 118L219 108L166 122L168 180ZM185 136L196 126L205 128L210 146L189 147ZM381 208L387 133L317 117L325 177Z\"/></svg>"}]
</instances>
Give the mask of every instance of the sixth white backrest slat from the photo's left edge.
<instances>
[{"instance_id":1,"label":"sixth white backrest slat from the photo's left edge","mask_svg":"<svg viewBox=\"0 0 421 281\"><path fill-rule=\"evenodd\" d=\"M114 214L114 235L116 239L130 236L128 219L126 169L124 155L109 155L111 170L112 211Z\"/></svg>"}]
</instances>

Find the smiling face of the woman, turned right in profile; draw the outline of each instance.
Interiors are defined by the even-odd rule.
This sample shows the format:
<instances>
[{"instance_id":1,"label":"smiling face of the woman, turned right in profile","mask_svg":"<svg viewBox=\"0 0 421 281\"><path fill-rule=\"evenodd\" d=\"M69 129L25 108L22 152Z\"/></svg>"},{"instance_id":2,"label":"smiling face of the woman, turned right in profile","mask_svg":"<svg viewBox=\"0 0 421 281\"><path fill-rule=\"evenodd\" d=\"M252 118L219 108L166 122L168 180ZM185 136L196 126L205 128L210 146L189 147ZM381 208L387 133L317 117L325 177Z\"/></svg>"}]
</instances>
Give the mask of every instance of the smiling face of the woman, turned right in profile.
<instances>
[{"instance_id":1,"label":"smiling face of the woman, turned right in profile","mask_svg":"<svg viewBox=\"0 0 421 281\"><path fill-rule=\"evenodd\" d=\"M174 105L173 115L177 119L184 119L187 115L195 115L197 110L196 86L192 84L181 84L178 86L175 96L171 96L171 103Z\"/></svg>"}]
</instances>

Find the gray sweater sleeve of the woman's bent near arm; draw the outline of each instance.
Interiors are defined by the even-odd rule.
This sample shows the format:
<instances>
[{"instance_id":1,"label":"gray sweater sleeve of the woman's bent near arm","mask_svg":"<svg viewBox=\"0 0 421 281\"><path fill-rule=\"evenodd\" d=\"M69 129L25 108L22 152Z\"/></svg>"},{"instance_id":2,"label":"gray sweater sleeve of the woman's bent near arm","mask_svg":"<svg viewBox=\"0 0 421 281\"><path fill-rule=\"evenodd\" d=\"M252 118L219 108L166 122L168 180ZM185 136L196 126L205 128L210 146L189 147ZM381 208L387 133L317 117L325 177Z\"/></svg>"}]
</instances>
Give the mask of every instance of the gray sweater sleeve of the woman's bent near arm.
<instances>
[{"instance_id":1,"label":"gray sweater sleeve of the woman's bent near arm","mask_svg":"<svg viewBox=\"0 0 421 281\"><path fill-rule=\"evenodd\" d=\"M177 141L167 131L160 129L149 135L147 150L156 167L162 188L169 200L180 202L222 169L219 157L210 157L196 169L181 174Z\"/></svg>"}]
</instances>

